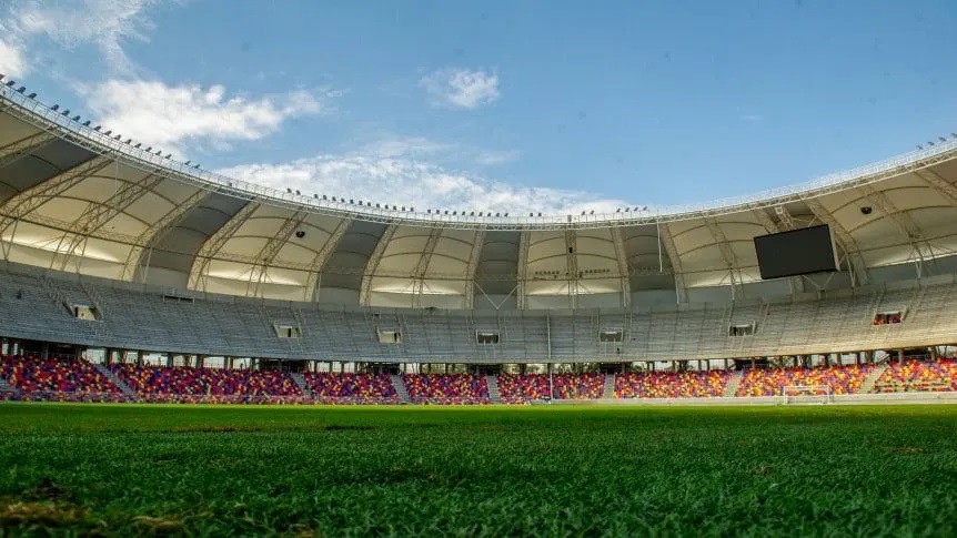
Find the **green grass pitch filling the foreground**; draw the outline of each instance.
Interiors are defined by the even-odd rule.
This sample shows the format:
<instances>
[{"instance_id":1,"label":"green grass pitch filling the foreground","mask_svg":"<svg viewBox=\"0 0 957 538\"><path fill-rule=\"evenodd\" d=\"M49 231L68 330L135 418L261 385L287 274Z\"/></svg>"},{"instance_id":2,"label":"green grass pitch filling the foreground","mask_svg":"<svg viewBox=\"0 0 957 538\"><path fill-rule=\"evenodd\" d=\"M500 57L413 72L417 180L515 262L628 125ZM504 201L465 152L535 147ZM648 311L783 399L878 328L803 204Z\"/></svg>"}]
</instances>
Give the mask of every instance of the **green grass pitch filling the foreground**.
<instances>
[{"instance_id":1,"label":"green grass pitch filling the foreground","mask_svg":"<svg viewBox=\"0 0 957 538\"><path fill-rule=\"evenodd\" d=\"M943 405L0 406L11 535L954 536L955 491Z\"/></svg>"}]
</instances>

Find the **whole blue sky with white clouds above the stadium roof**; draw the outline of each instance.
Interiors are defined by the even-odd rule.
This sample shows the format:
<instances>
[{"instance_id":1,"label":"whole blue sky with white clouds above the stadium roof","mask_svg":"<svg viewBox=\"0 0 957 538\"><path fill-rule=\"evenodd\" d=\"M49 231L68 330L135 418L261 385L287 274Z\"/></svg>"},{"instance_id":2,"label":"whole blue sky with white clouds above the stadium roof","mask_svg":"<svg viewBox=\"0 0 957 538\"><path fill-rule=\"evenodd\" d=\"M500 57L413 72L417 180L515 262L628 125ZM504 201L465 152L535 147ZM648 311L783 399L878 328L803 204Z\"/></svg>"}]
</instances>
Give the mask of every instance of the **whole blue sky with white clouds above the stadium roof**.
<instances>
[{"instance_id":1,"label":"whole blue sky with white clouds above the stadium roof","mask_svg":"<svg viewBox=\"0 0 957 538\"><path fill-rule=\"evenodd\" d=\"M272 186L419 207L744 195L957 131L957 3L10 0L0 72Z\"/></svg>"}]
</instances>

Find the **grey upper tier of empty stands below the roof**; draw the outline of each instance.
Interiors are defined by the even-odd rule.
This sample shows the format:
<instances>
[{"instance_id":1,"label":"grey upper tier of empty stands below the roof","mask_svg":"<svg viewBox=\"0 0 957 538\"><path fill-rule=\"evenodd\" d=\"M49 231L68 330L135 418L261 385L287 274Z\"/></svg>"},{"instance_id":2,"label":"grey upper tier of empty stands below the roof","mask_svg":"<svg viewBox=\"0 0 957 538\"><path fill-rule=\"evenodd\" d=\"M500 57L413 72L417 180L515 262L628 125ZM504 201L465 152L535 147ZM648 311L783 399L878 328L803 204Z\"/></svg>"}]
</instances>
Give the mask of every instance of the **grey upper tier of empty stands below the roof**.
<instances>
[{"instance_id":1,"label":"grey upper tier of empty stands below the roof","mask_svg":"<svg viewBox=\"0 0 957 538\"><path fill-rule=\"evenodd\" d=\"M0 286L19 290L0 294L0 326L8 336L68 342L125 349L295 359L304 356L361 356L394 361L395 348L374 338L376 321L367 308L323 304L251 301L214 294L192 301L170 301L162 291L94 277L66 278L17 264L0 271ZM44 291L56 282L61 295L92 291L105 305L102 321L78 321ZM688 305L679 311L629 313L597 312L587 317L561 311L493 312L410 309L387 311L403 327L405 362L463 361L481 357L490 346L475 342L475 331L507 326L494 347L496 356L527 362L551 356L574 362L583 356L613 361L672 361L674 357L779 356L808 353L826 345L835 349L880 349L893 342L947 342L955 323L939 313L957 302L957 283L937 282L919 290L869 288L836 291L824 300L742 302L734 314L725 306ZM81 285L82 284L82 285ZM30 316L18 315L24 304ZM876 309L906 309L904 323L872 325ZM384 315L384 314L383 314ZM714 337L726 334L728 319L759 319L760 331L746 339ZM273 322L296 319L301 338L276 338ZM614 348L600 348L596 331L572 329L575 324L623 326L626 339ZM548 328L551 326L551 329ZM802 327L795 331L794 327ZM290 342L294 341L294 342ZM611 355L608 355L611 354ZM507 361L503 361L507 362Z\"/></svg>"}]
</instances>

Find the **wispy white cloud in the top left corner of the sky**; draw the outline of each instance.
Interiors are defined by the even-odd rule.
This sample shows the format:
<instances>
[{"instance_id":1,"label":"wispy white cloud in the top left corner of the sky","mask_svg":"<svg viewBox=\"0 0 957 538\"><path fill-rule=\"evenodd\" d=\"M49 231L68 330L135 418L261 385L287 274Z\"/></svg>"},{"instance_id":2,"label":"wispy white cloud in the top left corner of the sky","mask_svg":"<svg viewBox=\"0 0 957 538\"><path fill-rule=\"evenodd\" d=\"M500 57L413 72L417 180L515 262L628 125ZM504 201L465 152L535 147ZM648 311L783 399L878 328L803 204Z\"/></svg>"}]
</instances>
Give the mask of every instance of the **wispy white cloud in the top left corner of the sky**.
<instances>
[{"instance_id":1,"label":"wispy white cloud in the top left corner of the sky","mask_svg":"<svg viewBox=\"0 0 957 538\"><path fill-rule=\"evenodd\" d=\"M34 0L24 9L11 10L11 26L21 39L46 34L66 49L94 44L111 69L125 73L132 63L123 43L149 41L152 22L144 11L159 3L161 0Z\"/></svg>"}]
</instances>

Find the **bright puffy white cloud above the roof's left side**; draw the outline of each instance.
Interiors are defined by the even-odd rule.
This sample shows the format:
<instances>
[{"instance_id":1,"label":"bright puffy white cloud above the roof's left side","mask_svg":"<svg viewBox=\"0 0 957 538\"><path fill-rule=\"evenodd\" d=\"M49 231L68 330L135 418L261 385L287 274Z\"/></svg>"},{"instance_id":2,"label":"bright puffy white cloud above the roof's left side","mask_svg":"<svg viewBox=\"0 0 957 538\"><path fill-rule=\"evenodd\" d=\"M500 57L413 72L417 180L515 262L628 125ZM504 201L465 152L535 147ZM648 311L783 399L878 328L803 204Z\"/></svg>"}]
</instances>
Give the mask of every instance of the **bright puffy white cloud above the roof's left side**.
<instances>
[{"instance_id":1,"label":"bright puffy white cloud above the roof's left side","mask_svg":"<svg viewBox=\"0 0 957 538\"><path fill-rule=\"evenodd\" d=\"M103 126L178 154L184 143L225 149L231 141L262 139L292 116L320 113L332 95L294 91L249 99L228 95L222 85L143 80L109 80L79 90Z\"/></svg>"}]
</instances>

